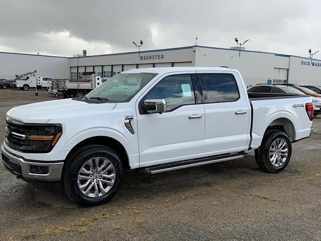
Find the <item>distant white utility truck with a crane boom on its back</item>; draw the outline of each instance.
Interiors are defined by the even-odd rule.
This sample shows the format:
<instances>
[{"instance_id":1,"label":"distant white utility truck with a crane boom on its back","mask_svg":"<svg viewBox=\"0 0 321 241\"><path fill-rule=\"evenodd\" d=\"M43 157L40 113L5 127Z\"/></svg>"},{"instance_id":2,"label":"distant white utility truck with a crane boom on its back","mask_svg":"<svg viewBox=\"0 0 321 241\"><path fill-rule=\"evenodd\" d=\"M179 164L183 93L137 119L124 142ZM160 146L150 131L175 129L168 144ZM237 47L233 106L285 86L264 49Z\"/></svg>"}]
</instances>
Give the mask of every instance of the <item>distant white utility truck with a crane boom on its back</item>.
<instances>
[{"instance_id":1,"label":"distant white utility truck with a crane boom on its back","mask_svg":"<svg viewBox=\"0 0 321 241\"><path fill-rule=\"evenodd\" d=\"M17 79L15 80L15 84L17 88L22 88L23 90L28 90L30 88L48 88L51 87L51 82L54 79L51 77L45 76L36 76L33 75L31 77L28 76L26 79Z\"/></svg>"}]
</instances>

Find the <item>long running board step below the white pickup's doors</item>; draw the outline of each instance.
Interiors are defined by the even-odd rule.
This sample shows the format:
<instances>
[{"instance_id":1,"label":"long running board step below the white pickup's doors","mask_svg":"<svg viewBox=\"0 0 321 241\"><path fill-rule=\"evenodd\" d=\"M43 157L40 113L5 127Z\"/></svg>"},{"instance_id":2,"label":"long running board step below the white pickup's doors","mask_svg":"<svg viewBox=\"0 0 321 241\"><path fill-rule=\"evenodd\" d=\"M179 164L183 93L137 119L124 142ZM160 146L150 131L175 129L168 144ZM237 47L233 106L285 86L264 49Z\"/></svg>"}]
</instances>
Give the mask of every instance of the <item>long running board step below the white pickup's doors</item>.
<instances>
[{"instance_id":1,"label":"long running board step below the white pickup's doors","mask_svg":"<svg viewBox=\"0 0 321 241\"><path fill-rule=\"evenodd\" d=\"M207 165L211 163L241 159L241 158L244 158L246 155L248 154L245 152L240 152L236 154L212 156L212 157L206 157L206 158L199 158L199 159L192 159L192 160L181 161L181 162L162 164L162 165L151 166L151 167L144 167L144 168L140 168L139 171L148 173L148 174L155 174L155 173L168 172L168 171L173 171L173 170L178 170L183 168L202 166L202 165Z\"/></svg>"}]
</instances>

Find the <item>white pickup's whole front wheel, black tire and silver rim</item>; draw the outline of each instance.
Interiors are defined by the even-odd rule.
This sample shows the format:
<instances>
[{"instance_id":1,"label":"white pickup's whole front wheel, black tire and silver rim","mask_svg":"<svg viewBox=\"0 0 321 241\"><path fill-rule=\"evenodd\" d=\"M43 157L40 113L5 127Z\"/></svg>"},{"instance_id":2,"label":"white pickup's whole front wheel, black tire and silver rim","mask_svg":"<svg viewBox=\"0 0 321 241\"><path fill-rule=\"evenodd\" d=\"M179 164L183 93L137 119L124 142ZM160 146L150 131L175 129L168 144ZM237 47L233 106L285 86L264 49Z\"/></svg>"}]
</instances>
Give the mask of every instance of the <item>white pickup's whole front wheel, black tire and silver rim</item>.
<instances>
[{"instance_id":1,"label":"white pickup's whole front wheel, black tire and silver rim","mask_svg":"<svg viewBox=\"0 0 321 241\"><path fill-rule=\"evenodd\" d=\"M65 163L63 188L67 196L83 206L100 205L118 191L123 168L111 149L92 145L72 155Z\"/></svg>"}]
</instances>

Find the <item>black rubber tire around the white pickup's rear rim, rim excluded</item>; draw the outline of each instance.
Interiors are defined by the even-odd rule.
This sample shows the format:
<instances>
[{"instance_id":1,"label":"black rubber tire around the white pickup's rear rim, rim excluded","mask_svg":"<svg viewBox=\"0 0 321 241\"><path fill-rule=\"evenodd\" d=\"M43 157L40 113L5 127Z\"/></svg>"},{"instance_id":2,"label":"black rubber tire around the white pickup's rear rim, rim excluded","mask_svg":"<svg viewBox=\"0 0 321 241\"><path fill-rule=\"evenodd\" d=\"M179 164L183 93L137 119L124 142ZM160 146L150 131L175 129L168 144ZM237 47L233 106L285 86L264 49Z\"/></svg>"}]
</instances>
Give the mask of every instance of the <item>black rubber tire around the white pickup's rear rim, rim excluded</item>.
<instances>
[{"instance_id":1,"label":"black rubber tire around the white pickup's rear rim, rim excluded","mask_svg":"<svg viewBox=\"0 0 321 241\"><path fill-rule=\"evenodd\" d=\"M273 142L277 139L283 139L288 147L287 157L283 164L281 164L279 167L273 166L269 157L270 147L272 146ZM277 173L282 171L287 166L291 159L291 154L292 144L289 137L282 131L269 130L264 134L260 148L255 150L255 161L261 170L269 173Z\"/></svg>"}]
</instances>

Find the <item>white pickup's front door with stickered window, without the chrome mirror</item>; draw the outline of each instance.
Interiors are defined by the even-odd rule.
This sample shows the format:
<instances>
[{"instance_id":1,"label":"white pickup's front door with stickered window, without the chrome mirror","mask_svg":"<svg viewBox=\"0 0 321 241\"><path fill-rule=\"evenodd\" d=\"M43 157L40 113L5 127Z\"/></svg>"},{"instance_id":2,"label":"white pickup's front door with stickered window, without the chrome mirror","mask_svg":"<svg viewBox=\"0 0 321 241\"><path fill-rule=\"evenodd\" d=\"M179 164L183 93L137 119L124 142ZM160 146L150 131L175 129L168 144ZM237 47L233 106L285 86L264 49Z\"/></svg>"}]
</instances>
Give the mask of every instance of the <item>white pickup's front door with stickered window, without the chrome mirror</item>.
<instances>
[{"instance_id":1,"label":"white pickup's front door with stickered window, without the chrome mirror","mask_svg":"<svg viewBox=\"0 0 321 241\"><path fill-rule=\"evenodd\" d=\"M142 110L146 99L165 99L166 112ZM204 105L195 71L157 79L137 100L139 166L197 158L204 153Z\"/></svg>"}]
</instances>

